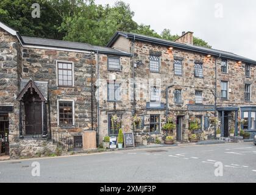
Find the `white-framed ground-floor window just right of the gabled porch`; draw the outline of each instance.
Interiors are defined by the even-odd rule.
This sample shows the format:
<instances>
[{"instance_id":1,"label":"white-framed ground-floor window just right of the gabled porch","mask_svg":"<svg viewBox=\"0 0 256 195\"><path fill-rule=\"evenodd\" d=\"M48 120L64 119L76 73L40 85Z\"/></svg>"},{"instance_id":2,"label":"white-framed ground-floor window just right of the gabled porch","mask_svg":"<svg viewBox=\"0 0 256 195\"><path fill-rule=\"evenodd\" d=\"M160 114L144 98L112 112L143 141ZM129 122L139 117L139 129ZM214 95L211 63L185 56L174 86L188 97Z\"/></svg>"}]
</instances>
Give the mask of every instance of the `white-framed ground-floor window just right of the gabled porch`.
<instances>
[{"instance_id":1,"label":"white-framed ground-floor window just right of the gabled porch","mask_svg":"<svg viewBox=\"0 0 256 195\"><path fill-rule=\"evenodd\" d=\"M57 100L58 126L74 126L74 100Z\"/></svg>"}]
</instances>

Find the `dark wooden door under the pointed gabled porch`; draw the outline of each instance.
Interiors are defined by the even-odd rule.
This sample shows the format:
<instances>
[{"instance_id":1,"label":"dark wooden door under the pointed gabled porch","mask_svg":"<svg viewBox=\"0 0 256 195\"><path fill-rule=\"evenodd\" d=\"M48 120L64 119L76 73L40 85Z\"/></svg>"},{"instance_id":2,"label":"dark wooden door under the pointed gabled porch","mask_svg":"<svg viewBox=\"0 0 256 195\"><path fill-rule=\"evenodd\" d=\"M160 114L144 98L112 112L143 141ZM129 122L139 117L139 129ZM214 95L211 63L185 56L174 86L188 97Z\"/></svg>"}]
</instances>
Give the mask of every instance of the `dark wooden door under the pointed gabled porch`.
<instances>
[{"instance_id":1,"label":"dark wooden door under the pointed gabled porch","mask_svg":"<svg viewBox=\"0 0 256 195\"><path fill-rule=\"evenodd\" d=\"M42 134L42 104L41 102L26 102L26 134Z\"/></svg>"}]
</instances>

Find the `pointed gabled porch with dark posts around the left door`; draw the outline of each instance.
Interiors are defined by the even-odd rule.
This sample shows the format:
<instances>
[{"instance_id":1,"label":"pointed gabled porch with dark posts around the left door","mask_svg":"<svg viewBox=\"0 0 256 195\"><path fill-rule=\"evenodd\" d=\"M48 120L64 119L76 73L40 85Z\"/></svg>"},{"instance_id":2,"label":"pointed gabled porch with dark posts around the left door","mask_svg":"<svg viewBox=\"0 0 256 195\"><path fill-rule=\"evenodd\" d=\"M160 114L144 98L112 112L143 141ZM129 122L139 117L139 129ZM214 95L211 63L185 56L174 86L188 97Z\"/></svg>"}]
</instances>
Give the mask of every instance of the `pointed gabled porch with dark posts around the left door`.
<instances>
[{"instance_id":1,"label":"pointed gabled porch with dark posts around the left door","mask_svg":"<svg viewBox=\"0 0 256 195\"><path fill-rule=\"evenodd\" d=\"M41 134L43 138L47 137L46 125L46 103L43 93L34 80L30 79L26 85L21 89L17 98L20 101L20 138L23 137L23 124L22 124L22 102L24 103L25 110L25 126L26 134Z\"/></svg>"}]
</instances>

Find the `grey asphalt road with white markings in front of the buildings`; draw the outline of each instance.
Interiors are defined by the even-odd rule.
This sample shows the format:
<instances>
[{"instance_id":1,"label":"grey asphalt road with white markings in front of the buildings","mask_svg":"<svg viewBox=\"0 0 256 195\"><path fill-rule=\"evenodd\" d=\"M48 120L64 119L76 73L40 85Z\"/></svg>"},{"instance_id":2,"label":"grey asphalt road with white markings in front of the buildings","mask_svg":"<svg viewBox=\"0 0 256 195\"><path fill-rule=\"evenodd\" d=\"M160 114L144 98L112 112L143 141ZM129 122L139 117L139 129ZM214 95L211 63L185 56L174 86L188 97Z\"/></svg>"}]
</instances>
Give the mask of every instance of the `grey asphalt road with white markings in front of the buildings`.
<instances>
[{"instance_id":1,"label":"grey asphalt road with white markings in front of the buildings","mask_svg":"<svg viewBox=\"0 0 256 195\"><path fill-rule=\"evenodd\" d=\"M32 163L36 161L36 166ZM223 176L215 176L215 163ZM40 165L40 176L32 176ZM221 168L218 166L218 168ZM39 170L39 169L37 169ZM252 143L160 147L0 162L5 182L256 182Z\"/></svg>"}]
</instances>

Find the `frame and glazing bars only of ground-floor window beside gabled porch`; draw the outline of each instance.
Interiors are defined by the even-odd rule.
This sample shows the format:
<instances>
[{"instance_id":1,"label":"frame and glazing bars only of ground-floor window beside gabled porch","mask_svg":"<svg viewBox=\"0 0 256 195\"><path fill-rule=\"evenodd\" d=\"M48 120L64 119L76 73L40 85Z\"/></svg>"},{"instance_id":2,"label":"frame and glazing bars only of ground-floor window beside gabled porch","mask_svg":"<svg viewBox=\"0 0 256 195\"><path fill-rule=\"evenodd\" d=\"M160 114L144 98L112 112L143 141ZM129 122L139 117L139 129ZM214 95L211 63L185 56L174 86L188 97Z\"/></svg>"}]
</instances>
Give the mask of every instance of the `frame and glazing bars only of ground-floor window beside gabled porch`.
<instances>
[{"instance_id":1,"label":"frame and glazing bars only of ground-floor window beside gabled porch","mask_svg":"<svg viewBox=\"0 0 256 195\"><path fill-rule=\"evenodd\" d=\"M70 103L71 103L71 105L70 105ZM60 104L63 104L63 105L60 105ZM68 105L65 106L65 104L68 104ZM59 126L73 126L74 125L74 113L73 113L74 105L73 104L74 104L73 101L58 101L58 107L59 107L58 123L59 123ZM60 111L61 109L63 109L63 112ZM69 112L64 112L64 109L69 109ZM70 109L71 109L71 111L70 111ZM62 117L61 117L61 115L62 115ZM68 115L68 117L65 117L65 115ZM69 117L69 115L71 115L71 117ZM66 120L68 120L67 123L65 123ZM69 121L71 121L71 122L69 122Z\"/></svg>"}]
</instances>

